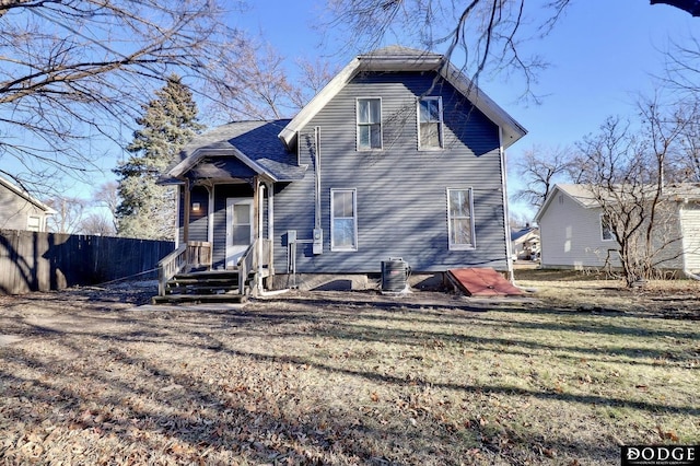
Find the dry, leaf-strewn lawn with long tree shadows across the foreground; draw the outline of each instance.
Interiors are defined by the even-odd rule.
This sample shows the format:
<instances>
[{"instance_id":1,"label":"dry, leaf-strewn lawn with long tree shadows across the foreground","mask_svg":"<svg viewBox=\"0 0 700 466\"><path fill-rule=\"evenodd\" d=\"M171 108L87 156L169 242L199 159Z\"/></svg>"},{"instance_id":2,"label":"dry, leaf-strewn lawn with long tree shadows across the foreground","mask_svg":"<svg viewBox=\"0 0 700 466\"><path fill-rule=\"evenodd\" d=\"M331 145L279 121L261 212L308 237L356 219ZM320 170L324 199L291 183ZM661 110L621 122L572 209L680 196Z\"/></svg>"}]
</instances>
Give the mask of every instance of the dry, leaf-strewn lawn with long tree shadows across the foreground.
<instances>
[{"instance_id":1,"label":"dry, leaf-strewn lawn with long tree shadows across the foreground","mask_svg":"<svg viewBox=\"0 0 700 466\"><path fill-rule=\"evenodd\" d=\"M0 296L0 464L574 466L698 443L698 283L527 273L517 300Z\"/></svg>"}]
</instances>

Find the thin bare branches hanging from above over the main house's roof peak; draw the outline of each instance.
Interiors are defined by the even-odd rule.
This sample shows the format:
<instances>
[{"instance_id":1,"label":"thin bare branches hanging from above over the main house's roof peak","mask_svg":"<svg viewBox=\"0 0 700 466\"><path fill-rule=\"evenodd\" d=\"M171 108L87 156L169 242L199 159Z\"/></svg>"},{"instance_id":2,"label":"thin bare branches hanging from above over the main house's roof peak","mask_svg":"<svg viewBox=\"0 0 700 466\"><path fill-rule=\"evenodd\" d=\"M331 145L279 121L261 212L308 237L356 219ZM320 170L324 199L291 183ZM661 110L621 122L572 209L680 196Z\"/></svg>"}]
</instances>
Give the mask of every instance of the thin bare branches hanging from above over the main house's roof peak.
<instances>
[{"instance_id":1,"label":"thin bare branches hanging from above over the main house's roof peak","mask_svg":"<svg viewBox=\"0 0 700 466\"><path fill-rule=\"evenodd\" d=\"M464 71L475 81L483 71L518 74L525 81L523 96L537 101L532 84L547 63L537 55L524 56L522 45L549 34L574 1L328 0L332 19L326 26L348 30L348 46L360 49L393 35L429 50L446 48L447 59L464 57ZM697 9L688 1L651 1L662 2L690 13Z\"/></svg>"}]
</instances>

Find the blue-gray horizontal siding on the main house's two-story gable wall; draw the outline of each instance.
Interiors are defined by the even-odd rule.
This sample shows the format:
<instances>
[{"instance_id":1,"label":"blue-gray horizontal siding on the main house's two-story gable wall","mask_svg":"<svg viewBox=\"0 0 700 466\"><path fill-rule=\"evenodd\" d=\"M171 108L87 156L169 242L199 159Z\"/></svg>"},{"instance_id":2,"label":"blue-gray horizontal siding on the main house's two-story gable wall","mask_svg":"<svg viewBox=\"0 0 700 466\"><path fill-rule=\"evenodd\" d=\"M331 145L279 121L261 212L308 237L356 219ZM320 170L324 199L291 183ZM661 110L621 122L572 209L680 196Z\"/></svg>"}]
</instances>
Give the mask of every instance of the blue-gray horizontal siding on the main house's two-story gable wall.
<instances>
[{"instance_id":1,"label":"blue-gray horizontal siding on the main house's two-story gable wall","mask_svg":"<svg viewBox=\"0 0 700 466\"><path fill-rule=\"evenodd\" d=\"M434 74L357 77L302 132L320 127L324 254L300 244L299 272L378 272L381 261L402 257L416 271L453 267L508 267L499 129ZM435 84L433 86L433 84ZM432 88L432 89L431 89ZM445 149L418 150L416 97L441 95ZM384 147L355 150L355 98L382 97ZM300 138L303 141L304 138ZM284 272L283 234L311 238L314 226L313 154L301 144L303 180L278 186L275 197L276 270ZM474 189L476 249L448 251L446 188ZM358 251L330 251L330 189L355 188Z\"/></svg>"}]
</instances>

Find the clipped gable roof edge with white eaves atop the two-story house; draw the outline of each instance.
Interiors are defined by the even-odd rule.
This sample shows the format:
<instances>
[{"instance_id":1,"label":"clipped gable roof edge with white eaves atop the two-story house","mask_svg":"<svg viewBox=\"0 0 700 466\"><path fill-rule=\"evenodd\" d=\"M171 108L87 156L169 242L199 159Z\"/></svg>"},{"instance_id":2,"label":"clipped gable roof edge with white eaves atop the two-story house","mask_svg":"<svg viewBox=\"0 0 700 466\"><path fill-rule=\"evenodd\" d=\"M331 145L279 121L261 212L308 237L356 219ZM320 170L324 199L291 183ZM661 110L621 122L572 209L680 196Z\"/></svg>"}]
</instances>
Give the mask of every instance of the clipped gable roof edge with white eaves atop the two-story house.
<instances>
[{"instance_id":1,"label":"clipped gable roof edge with white eaves atop the two-story house","mask_svg":"<svg viewBox=\"0 0 700 466\"><path fill-rule=\"evenodd\" d=\"M360 55L350 61L282 129L279 138L284 142L284 145L292 148L296 140L296 131L308 124L358 73L364 71L435 71L502 129L502 144L504 148L510 147L527 133L523 126L477 88L462 71L447 61L444 55L390 46Z\"/></svg>"}]
</instances>

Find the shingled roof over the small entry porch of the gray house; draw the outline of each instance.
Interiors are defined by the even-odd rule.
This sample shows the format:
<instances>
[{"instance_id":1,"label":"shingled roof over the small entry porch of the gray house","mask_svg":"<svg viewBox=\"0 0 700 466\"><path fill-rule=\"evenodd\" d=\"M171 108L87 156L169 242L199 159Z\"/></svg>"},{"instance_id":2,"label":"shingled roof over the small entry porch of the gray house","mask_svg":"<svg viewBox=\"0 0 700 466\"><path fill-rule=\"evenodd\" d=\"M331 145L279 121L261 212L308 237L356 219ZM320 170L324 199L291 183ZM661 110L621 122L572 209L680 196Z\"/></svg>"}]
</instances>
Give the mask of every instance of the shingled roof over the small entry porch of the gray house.
<instances>
[{"instance_id":1,"label":"shingled roof over the small entry porch of the gray house","mask_svg":"<svg viewBox=\"0 0 700 466\"><path fill-rule=\"evenodd\" d=\"M241 170L252 175L266 175L273 182L302 179L306 166L298 164L277 135L289 119L269 121L234 121L219 126L192 139L179 152L161 178L162 183L182 180L187 174L195 178L225 179L241 177ZM226 159L235 159L240 164Z\"/></svg>"}]
</instances>

